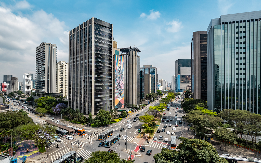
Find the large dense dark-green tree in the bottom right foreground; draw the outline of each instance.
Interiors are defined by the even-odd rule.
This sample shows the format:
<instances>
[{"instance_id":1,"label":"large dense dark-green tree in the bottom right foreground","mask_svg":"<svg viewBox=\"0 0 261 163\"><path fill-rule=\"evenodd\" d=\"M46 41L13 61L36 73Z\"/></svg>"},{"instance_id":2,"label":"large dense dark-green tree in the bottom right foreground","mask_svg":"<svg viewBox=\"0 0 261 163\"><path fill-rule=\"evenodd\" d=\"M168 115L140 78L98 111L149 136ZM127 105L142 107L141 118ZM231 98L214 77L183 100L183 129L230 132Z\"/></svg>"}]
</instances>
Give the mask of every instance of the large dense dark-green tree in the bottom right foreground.
<instances>
[{"instance_id":1,"label":"large dense dark-green tree in the bottom right foreground","mask_svg":"<svg viewBox=\"0 0 261 163\"><path fill-rule=\"evenodd\" d=\"M180 137L182 143L177 149L162 149L161 153L155 154L153 157L155 163L228 163L224 158L218 156L216 149L205 140L187 139Z\"/></svg>"}]
</instances>

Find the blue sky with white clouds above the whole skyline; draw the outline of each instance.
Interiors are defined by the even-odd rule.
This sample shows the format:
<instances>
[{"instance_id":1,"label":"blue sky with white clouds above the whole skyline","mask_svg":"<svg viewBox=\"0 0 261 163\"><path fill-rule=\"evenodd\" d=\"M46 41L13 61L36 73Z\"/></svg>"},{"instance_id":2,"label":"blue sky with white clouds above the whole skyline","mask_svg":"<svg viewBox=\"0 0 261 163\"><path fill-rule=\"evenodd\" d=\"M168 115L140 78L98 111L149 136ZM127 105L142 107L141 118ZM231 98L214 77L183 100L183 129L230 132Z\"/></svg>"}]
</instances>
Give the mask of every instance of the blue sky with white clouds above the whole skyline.
<instances>
[{"instance_id":1,"label":"blue sky with white clouds above the whole skyline","mask_svg":"<svg viewBox=\"0 0 261 163\"><path fill-rule=\"evenodd\" d=\"M35 78L35 50L42 42L56 44L57 61L68 62L69 30L92 16L113 24L118 48L137 47L141 67L153 65L159 80L171 82L175 60L191 58L194 31L206 31L221 15L260 6L260 0L0 0L0 82L3 75Z\"/></svg>"}]
</instances>

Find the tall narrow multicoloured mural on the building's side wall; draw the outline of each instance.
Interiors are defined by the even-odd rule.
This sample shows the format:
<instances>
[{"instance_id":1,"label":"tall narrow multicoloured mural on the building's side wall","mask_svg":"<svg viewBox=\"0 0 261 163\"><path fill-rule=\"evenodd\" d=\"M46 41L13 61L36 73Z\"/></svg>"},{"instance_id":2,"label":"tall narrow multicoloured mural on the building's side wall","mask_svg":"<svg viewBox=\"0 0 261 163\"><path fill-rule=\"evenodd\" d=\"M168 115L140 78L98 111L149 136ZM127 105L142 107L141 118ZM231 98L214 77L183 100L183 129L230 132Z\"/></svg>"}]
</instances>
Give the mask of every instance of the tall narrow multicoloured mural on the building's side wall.
<instances>
[{"instance_id":1,"label":"tall narrow multicoloured mural on the building's side wall","mask_svg":"<svg viewBox=\"0 0 261 163\"><path fill-rule=\"evenodd\" d=\"M115 55L115 108L124 108L124 60Z\"/></svg>"}]
</instances>

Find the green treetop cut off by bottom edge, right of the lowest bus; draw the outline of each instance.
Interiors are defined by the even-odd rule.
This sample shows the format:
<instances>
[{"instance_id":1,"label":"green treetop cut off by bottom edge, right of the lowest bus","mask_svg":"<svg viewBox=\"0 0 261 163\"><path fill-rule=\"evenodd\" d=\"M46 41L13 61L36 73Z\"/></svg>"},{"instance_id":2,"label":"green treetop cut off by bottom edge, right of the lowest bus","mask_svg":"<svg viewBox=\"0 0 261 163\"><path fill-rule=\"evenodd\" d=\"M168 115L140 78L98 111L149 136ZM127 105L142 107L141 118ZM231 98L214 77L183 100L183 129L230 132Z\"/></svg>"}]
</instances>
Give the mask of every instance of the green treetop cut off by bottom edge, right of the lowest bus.
<instances>
[{"instance_id":1,"label":"green treetop cut off by bottom edge, right of the lowest bus","mask_svg":"<svg viewBox=\"0 0 261 163\"><path fill-rule=\"evenodd\" d=\"M84 160L84 163L103 162L103 163L132 163L135 160L120 159L116 152L109 153L107 151L95 151L90 154L90 157Z\"/></svg>"}]
</instances>

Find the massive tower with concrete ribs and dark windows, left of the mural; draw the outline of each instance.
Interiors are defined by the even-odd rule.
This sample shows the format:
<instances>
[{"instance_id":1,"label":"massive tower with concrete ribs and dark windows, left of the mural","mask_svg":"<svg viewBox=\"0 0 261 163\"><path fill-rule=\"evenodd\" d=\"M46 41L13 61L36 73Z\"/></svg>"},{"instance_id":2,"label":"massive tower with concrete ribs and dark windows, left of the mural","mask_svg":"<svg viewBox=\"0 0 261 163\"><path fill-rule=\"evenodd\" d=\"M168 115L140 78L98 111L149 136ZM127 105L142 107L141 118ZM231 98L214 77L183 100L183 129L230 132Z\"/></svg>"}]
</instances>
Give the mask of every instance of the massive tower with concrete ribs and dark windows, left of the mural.
<instances>
[{"instance_id":1,"label":"massive tower with concrete ribs and dark windows, left of the mural","mask_svg":"<svg viewBox=\"0 0 261 163\"><path fill-rule=\"evenodd\" d=\"M97 115L113 109L113 25L92 17L69 31L68 106Z\"/></svg>"}]
</instances>

